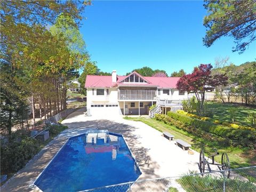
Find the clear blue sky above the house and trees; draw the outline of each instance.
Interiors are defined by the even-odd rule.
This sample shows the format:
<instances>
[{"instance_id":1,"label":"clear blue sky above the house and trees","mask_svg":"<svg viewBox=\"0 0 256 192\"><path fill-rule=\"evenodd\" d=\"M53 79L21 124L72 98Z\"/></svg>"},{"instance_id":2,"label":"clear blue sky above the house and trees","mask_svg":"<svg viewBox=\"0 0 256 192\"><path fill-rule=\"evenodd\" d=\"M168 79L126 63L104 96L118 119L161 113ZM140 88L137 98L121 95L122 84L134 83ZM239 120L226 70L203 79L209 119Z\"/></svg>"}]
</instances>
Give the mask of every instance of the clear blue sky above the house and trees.
<instances>
[{"instance_id":1,"label":"clear blue sky above the house and trees","mask_svg":"<svg viewBox=\"0 0 256 192\"><path fill-rule=\"evenodd\" d=\"M180 69L190 73L201 63L214 66L215 58L226 56L235 65L255 60L255 42L240 55L231 51L231 37L203 46L204 15L202 1L93 1L80 30L91 60L118 75L144 66L168 75Z\"/></svg>"}]
</instances>

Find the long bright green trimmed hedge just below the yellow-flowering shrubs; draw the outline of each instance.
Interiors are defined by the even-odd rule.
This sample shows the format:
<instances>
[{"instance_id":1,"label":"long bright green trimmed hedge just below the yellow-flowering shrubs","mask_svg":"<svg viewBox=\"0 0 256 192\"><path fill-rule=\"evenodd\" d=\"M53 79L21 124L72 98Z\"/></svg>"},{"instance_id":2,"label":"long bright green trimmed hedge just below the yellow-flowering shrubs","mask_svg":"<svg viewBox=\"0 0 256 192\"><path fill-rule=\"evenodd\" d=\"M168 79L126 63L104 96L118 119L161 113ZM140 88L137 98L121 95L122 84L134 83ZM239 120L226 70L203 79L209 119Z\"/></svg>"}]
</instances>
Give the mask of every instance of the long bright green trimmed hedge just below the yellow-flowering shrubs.
<instances>
[{"instance_id":1,"label":"long bright green trimmed hedge just below the yellow-flowering shrubs","mask_svg":"<svg viewBox=\"0 0 256 192\"><path fill-rule=\"evenodd\" d=\"M167 116L185 123L188 126L194 126L196 129L213 133L223 138L236 140L236 142L242 146L253 147L256 143L256 132L252 130L234 129L223 125L216 125L212 122L191 118L186 115L173 113L172 111L169 111Z\"/></svg>"}]
</instances>

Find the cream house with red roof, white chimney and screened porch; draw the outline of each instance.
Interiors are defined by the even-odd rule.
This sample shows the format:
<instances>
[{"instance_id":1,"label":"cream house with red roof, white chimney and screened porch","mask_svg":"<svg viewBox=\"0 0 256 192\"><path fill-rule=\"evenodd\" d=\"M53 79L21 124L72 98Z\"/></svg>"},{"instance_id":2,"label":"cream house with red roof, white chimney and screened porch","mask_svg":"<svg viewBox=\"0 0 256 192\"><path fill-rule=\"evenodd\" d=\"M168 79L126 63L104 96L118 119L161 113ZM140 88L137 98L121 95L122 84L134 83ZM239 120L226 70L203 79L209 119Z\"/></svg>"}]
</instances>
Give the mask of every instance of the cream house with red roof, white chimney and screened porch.
<instances>
[{"instance_id":1,"label":"cream house with red roof, white chimney and screened porch","mask_svg":"<svg viewBox=\"0 0 256 192\"><path fill-rule=\"evenodd\" d=\"M127 76L87 75L87 113L90 115L149 114L149 107L158 102L171 103L187 99L186 92L175 89L179 77L144 77L133 71Z\"/></svg>"}]
</instances>

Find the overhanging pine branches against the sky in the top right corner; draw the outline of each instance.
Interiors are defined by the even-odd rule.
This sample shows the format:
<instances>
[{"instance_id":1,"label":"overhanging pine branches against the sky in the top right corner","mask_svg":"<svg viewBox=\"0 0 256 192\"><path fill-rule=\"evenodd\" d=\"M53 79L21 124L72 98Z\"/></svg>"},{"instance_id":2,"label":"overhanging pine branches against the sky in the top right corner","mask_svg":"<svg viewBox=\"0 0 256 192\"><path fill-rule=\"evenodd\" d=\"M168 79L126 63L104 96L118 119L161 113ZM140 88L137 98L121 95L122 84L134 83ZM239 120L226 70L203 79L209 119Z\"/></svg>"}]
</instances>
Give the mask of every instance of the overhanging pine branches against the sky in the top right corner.
<instances>
[{"instance_id":1,"label":"overhanging pine branches against the sky in the top right corner","mask_svg":"<svg viewBox=\"0 0 256 192\"><path fill-rule=\"evenodd\" d=\"M256 1L205 0L204 7L209 13L204 18L205 46L210 47L220 37L231 36L236 44L233 51L243 53L256 39Z\"/></svg>"}]
</instances>

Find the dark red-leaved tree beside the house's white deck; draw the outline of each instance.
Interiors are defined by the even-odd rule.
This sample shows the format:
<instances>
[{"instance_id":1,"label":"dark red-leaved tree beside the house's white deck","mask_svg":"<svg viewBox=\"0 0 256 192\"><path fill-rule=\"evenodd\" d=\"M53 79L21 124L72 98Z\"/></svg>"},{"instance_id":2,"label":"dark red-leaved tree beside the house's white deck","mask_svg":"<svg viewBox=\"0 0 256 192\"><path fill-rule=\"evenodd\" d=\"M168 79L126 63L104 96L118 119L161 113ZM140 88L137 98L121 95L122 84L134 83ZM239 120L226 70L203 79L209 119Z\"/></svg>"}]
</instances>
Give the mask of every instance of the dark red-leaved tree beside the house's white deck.
<instances>
[{"instance_id":1,"label":"dark red-leaved tree beside the house's white deck","mask_svg":"<svg viewBox=\"0 0 256 192\"><path fill-rule=\"evenodd\" d=\"M194 92L198 101L198 114L203 115L205 102L205 91L219 85L227 85L226 74L211 75L211 64L201 64L194 68L191 74L183 75L178 83L177 89L180 91Z\"/></svg>"}]
</instances>

